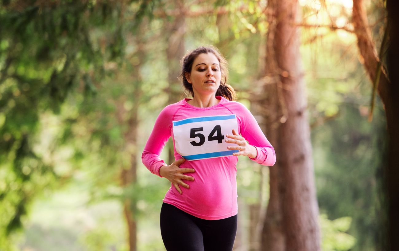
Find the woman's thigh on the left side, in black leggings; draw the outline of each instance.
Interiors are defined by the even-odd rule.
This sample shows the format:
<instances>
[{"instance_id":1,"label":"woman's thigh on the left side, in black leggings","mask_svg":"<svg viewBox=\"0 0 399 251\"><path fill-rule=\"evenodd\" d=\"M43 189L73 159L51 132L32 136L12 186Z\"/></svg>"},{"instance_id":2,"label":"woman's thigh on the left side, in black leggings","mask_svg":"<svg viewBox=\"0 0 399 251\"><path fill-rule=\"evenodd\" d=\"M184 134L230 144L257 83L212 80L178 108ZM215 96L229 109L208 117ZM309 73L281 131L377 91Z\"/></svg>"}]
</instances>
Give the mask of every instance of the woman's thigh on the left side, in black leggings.
<instances>
[{"instance_id":1,"label":"woman's thigh on the left side, in black leggings","mask_svg":"<svg viewBox=\"0 0 399 251\"><path fill-rule=\"evenodd\" d=\"M168 251L204 251L203 236L192 215L163 203L160 214L162 241Z\"/></svg>"}]
</instances>

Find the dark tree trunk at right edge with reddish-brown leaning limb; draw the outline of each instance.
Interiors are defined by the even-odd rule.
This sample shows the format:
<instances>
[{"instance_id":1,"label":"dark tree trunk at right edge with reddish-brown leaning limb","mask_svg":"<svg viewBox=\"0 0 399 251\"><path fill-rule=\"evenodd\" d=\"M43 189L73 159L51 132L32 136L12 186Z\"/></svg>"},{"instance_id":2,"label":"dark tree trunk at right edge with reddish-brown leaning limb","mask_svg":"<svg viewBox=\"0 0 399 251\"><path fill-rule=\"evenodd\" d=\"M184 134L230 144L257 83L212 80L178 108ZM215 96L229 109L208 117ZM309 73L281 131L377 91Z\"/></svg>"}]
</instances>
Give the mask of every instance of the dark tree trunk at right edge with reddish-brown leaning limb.
<instances>
[{"instance_id":1,"label":"dark tree trunk at right edge with reddish-brown leaning limb","mask_svg":"<svg viewBox=\"0 0 399 251\"><path fill-rule=\"evenodd\" d=\"M353 0L353 23L358 38L359 52L364 59L364 66L371 82L375 83L378 70L379 84L377 92L384 104L388 131L387 165L384 166L384 188L386 189L388 214L388 247L396 250L399 246L399 30L397 28L397 1L387 1L390 46L387 52L388 79L383 69L380 69L377 51L368 28L367 12L363 0Z\"/></svg>"}]
</instances>

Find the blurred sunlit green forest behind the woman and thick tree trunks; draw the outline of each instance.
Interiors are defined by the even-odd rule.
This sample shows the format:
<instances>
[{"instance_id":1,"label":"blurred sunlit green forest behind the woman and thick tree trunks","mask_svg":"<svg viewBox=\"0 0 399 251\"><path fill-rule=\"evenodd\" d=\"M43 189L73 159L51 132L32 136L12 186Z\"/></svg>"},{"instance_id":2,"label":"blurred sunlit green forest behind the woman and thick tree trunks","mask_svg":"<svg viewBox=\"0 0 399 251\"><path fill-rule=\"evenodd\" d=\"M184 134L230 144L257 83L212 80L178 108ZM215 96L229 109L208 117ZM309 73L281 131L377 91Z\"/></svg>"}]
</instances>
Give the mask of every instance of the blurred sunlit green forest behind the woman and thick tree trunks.
<instances>
[{"instance_id":1,"label":"blurred sunlit green forest behind the woman and thick tree trunks","mask_svg":"<svg viewBox=\"0 0 399 251\"><path fill-rule=\"evenodd\" d=\"M354 3L367 17L380 76L385 1L299 0L299 18L290 23L299 34L292 61L306 87L310 182L324 251L387 250L387 119L363 66ZM269 47L271 31L279 32L276 4L2 0L0 250L164 250L159 212L170 183L140 157L160 110L185 97L180 58L201 45L219 48L238 101L268 138L277 137L268 133L274 108L265 105L269 86L279 86L269 72L279 46ZM284 108L276 116L290 120ZM167 163L171 149L161 156ZM279 162L264 167L239 158L234 250L273 250L263 244L273 168Z\"/></svg>"}]
</instances>

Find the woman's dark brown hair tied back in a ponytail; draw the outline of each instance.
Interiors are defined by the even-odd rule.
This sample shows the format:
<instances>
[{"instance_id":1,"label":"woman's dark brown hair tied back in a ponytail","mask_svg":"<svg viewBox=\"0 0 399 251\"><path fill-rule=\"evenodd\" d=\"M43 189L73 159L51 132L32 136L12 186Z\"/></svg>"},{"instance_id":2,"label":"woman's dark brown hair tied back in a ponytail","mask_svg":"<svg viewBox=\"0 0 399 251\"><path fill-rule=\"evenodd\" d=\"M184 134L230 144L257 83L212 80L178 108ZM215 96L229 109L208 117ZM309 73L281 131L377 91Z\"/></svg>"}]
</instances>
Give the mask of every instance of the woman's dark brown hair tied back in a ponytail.
<instances>
[{"instance_id":1,"label":"woman's dark brown hair tied back in a ponytail","mask_svg":"<svg viewBox=\"0 0 399 251\"><path fill-rule=\"evenodd\" d=\"M180 60L180 65L182 67L182 72L180 74L180 79L182 80L182 84L184 88L191 94L191 96L194 97L194 92L193 92L193 87L192 85L187 81L186 79L186 72L190 73L192 70L192 66L194 63L194 60L198 57L199 54L207 54L207 53L213 53L217 60L219 61L220 64L220 72L221 72L221 81L220 81L220 86L216 91L215 96L223 96L226 99L233 101L236 99L236 93L233 87L231 87L229 84L227 84L228 81L228 76L229 76L229 71L227 69L227 60L223 57L223 55L217 50L215 46L201 46L198 47L197 49L188 52L182 60Z\"/></svg>"}]
</instances>

